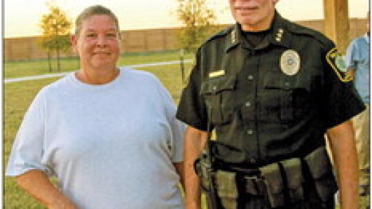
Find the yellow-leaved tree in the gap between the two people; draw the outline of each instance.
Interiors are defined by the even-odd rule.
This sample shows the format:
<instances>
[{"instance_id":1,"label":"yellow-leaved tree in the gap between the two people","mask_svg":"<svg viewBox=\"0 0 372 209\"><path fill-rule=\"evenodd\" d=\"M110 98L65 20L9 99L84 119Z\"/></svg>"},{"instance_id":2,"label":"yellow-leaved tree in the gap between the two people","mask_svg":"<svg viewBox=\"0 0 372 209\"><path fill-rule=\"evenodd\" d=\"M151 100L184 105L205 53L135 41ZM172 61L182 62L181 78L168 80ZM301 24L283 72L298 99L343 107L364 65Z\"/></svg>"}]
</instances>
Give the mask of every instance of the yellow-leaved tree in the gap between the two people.
<instances>
[{"instance_id":1,"label":"yellow-leaved tree in the gap between the two people","mask_svg":"<svg viewBox=\"0 0 372 209\"><path fill-rule=\"evenodd\" d=\"M176 10L178 19L184 27L180 30L178 43L186 52L195 53L196 49L216 29L213 26L216 20L214 11L207 8L205 0L177 0Z\"/></svg>"}]
</instances>

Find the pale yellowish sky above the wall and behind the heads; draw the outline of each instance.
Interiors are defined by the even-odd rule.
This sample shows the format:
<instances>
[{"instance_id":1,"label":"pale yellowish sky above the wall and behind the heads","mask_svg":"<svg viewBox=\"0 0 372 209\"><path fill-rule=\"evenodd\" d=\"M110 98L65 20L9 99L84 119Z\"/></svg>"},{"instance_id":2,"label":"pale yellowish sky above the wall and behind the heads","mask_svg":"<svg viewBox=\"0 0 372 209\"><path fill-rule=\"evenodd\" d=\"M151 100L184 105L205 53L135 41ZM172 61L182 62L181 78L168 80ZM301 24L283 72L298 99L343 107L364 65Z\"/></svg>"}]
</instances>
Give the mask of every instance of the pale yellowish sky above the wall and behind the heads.
<instances>
[{"instance_id":1,"label":"pale yellowish sky above the wall and behind the heads","mask_svg":"<svg viewBox=\"0 0 372 209\"><path fill-rule=\"evenodd\" d=\"M324 0L280 0L276 6L283 17L292 21L323 19ZM234 23L229 0L207 0L217 14L217 23ZM101 4L118 17L121 30L179 27L176 0L3 0L3 35L5 38L41 34L39 21L48 13L47 3L54 3L73 21L90 5ZM349 17L364 18L369 0L349 0Z\"/></svg>"}]
</instances>

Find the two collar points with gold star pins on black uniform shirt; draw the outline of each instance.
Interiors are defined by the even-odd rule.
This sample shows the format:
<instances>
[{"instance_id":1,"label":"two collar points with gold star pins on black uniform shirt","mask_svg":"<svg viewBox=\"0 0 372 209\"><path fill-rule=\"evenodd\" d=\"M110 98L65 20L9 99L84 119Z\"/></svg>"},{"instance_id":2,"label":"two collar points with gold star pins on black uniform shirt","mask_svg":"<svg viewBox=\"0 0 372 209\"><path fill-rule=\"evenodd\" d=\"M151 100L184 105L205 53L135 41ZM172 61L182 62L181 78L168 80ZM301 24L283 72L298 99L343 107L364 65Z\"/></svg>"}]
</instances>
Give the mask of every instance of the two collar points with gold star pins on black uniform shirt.
<instances>
[{"instance_id":1,"label":"two collar points with gold star pins on black uniform shirt","mask_svg":"<svg viewBox=\"0 0 372 209\"><path fill-rule=\"evenodd\" d=\"M265 39L274 45L289 47L291 34L287 31L287 22L288 21L283 19L278 12L275 12L273 23L270 27L270 32L267 34ZM242 43L244 39L242 33L241 25L236 23L230 32L230 39L226 40L226 52Z\"/></svg>"}]
</instances>

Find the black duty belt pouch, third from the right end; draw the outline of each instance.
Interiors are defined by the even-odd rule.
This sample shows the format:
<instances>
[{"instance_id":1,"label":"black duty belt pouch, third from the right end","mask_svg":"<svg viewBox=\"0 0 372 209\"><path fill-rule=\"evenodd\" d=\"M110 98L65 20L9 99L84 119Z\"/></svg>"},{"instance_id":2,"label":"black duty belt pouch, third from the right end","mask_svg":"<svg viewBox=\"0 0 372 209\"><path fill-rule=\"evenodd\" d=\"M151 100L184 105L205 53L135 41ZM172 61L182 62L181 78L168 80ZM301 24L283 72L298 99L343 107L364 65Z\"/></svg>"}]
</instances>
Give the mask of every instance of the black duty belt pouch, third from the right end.
<instances>
[{"instance_id":1,"label":"black duty belt pouch, third from the right end","mask_svg":"<svg viewBox=\"0 0 372 209\"><path fill-rule=\"evenodd\" d=\"M259 168L264 178L267 190L267 197L272 208L283 206L285 194L282 175L277 163L269 164Z\"/></svg>"}]
</instances>

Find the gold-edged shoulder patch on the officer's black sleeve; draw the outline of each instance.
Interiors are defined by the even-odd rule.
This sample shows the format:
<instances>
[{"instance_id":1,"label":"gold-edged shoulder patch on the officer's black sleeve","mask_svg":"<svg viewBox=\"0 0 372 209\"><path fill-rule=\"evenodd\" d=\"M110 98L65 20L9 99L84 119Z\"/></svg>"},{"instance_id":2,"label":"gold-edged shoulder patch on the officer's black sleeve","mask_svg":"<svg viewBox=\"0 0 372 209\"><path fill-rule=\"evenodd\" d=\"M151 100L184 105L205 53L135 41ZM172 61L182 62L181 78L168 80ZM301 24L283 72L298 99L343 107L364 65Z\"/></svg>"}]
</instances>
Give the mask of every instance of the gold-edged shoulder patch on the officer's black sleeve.
<instances>
[{"instance_id":1,"label":"gold-edged shoulder patch on the officer's black sleeve","mask_svg":"<svg viewBox=\"0 0 372 209\"><path fill-rule=\"evenodd\" d=\"M347 83L353 80L352 72L347 71L344 58L342 58L342 55L338 52L338 50L335 47L333 47L331 50L329 50L329 52L327 52L326 60L331 69L333 69L335 74L342 82Z\"/></svg>"}]
</instances>

